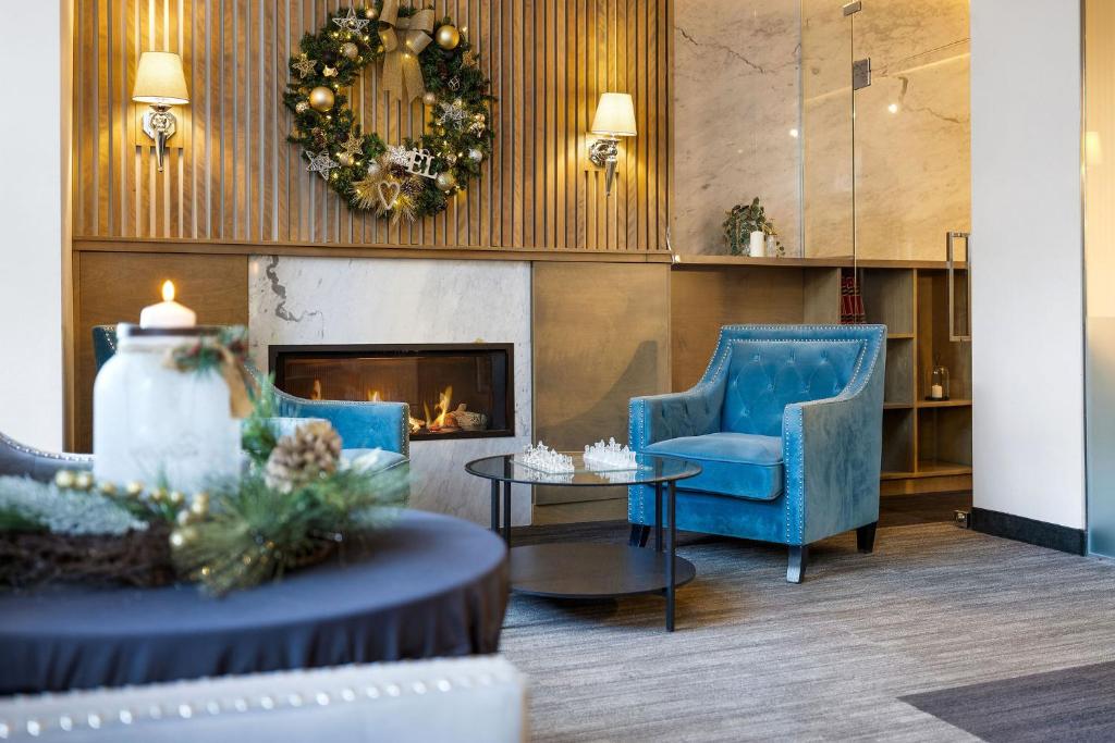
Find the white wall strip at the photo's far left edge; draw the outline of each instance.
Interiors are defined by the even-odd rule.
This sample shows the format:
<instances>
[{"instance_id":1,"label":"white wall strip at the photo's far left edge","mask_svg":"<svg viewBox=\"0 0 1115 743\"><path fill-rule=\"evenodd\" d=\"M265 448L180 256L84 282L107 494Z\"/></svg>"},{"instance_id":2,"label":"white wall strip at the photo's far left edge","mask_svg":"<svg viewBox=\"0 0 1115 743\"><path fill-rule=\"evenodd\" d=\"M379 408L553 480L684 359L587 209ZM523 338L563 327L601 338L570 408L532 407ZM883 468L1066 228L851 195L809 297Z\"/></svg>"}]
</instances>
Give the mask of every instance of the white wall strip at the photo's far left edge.
<instances>
[{"instance_id":1,"label":"white wall strip at the photo's far left edge","mask_svg":"<svg viewBox=\"0 0 1115 743\"><path fill-rule=\"evenodd\" d=\"M62 442L61 39L68 27L60 8L56 1L0 9L0 69L9 71L0 116L0 431L51 449Z\"/></svg>"}]
</instances>

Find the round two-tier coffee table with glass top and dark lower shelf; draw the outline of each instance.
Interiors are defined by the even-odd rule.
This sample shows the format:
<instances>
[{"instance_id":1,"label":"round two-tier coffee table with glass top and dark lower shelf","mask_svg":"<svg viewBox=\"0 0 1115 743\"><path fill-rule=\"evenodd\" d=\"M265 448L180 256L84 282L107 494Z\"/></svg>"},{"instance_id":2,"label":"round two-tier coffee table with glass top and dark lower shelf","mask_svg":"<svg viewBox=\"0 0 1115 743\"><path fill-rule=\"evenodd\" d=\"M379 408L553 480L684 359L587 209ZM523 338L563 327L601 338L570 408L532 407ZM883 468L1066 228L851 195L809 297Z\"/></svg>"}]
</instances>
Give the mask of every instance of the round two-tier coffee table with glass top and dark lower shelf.
<instances>
[{"instance_id":1,"label":"round two-tier coffee table with glass top and dark lower shelf","mask_svg":"<svg viewBox=\"0 0 1115 743\"><path fill-rule=\"evenodd\" d=\"M492 530L503 536L510 550L511 589L550 598L619 598L637 594L666 594L666 628L673 632L673 595L697 576L697 568L676 554L673 514L677 482L700 475L700 465L672 457L638 454L636 469L593 469L579 452L574 471L551 473L520 461L520 454L485 457L465 470L492 481ZM553 542L512 547L511 486L545 485L563 488L602 488L646 485L655 488L655 549L595 542ZM500 490L503 489L501 509ZM662 490L666 490L663 519ZM502 510L502 520L501 520ZM663 545L663 524L666 539ZM502 526L501 526L502 525Z\"/></svg>"}]
</instances>

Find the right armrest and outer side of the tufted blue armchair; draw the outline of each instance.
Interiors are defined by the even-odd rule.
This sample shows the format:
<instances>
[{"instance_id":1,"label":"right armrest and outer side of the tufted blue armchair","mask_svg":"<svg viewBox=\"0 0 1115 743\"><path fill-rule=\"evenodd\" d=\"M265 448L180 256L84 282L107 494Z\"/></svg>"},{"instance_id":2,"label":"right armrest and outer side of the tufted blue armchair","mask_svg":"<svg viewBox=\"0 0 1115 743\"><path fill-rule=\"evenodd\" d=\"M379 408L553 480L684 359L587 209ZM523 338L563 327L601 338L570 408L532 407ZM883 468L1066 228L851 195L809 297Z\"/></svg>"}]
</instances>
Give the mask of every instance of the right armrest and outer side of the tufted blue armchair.
<instances>
[{"instance_id":1,"label":"right armrest and outer side of the tufted blue armchair","mask_svg":"<svg viewBox=\"0 0 1115 743\"><path fill-rule=\"evenodd\" d=\"M786 405L788 544L817 539L879 520L883 373L859 390Z\"/></svg>"}]
</instances>

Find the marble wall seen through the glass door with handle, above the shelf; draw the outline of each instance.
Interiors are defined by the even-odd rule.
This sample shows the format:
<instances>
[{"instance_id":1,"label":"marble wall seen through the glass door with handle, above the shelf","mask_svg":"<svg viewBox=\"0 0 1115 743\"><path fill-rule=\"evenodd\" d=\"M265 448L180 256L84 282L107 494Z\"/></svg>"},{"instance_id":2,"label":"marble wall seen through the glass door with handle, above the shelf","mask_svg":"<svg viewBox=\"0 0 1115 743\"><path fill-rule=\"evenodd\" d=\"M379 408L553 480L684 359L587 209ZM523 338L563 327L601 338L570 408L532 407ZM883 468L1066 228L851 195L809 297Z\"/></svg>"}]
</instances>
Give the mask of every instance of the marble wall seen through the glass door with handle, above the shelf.
<instances>
[{"instance_id":1,"label":"marble wall seen through the glass door with handle, above the shelf","mask_svg":"<svg viewBox=\"0 0 1115 743\"><path fill-rule=\"evenodd\" d=\"M969 0L864 0L852 51L860 260L944 261L971 223ZM964 247L967 247L964 245Z\"/></svg>"}]
</instances>

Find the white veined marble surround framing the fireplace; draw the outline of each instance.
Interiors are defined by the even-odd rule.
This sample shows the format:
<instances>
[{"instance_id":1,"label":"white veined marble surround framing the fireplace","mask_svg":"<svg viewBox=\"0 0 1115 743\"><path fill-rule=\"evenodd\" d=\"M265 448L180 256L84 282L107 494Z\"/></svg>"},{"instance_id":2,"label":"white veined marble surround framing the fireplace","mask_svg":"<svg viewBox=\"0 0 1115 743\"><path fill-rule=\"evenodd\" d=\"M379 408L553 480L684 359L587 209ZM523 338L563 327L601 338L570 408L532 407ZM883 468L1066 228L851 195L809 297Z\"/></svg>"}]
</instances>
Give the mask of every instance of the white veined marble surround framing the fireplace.
<instances>
[{"instance_id":1,"label":"white veined marble surround framing the fireplace","mask_svg":"<svg viewBox=\"0 0 1115 743\"><path fill-rule=\"evenodd\" d=\"M529 262L255 255L249 330L260 369L271 344L513 343L514 437L410 443L411 507L488 524L488 482L464 465L532 439ZM531 493L515 489L512 522L530 520Z\"/></svg>"}]
</instances>

